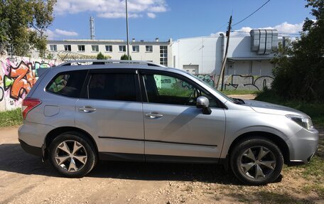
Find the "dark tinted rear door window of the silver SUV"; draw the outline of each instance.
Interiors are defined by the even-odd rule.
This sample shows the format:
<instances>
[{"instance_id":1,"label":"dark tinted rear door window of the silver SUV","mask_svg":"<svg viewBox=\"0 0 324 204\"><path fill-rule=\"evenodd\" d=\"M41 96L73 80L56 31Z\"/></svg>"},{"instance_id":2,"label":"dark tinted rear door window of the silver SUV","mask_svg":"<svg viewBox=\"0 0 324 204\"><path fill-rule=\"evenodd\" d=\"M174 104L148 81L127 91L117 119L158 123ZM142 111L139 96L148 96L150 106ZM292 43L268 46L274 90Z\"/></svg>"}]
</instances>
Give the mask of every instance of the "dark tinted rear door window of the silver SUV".
<instances>
[{"instance_id":1,"label":"dark tinted rear door window of the silver SUV","mask_svg":"<svg viewBox=\"0 0 324 204\"><path fill-rule=\"evenodd\" d=\"M95 73L90 77L88 95L95 100L136 102L135 75L128 73Z\"/></svg>"}]
</instances>

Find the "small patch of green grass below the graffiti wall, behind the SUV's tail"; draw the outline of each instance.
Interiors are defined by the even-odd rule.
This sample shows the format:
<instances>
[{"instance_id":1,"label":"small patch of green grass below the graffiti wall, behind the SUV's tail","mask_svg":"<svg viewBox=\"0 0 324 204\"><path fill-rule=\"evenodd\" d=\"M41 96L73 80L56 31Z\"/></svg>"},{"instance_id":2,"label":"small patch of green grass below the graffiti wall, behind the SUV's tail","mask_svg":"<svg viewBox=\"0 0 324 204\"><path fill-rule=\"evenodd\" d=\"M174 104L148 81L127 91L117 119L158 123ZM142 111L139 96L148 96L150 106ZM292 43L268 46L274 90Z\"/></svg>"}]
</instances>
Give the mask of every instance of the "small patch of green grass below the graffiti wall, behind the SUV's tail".
<instances>
[{"instance_id":1,"label":"small patch of green grass below the graffiti wall, behind the SUV's tail","mask_svg":"<svg viewBox=\"0 0 324 204\"><path fill-rule=\"evenodd\" d=\"M0 112L0 127L13 126L23 123L21 109L13 109L6 112Z\"/></svg>"}]
</instances>

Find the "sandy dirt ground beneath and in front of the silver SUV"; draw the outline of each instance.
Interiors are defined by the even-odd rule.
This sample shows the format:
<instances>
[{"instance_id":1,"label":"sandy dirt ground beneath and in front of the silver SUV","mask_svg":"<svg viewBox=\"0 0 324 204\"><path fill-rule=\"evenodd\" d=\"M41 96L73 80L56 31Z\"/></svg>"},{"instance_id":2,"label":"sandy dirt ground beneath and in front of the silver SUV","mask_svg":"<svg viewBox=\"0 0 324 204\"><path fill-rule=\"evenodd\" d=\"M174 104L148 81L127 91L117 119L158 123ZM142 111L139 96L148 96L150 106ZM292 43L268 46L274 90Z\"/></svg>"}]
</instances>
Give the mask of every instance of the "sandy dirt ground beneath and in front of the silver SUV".
<instances>
[{"instance_id":1,"label":"sandy dirt ground beneath and in front of the silver SUV","mask_svg":"<svg viewBox=\"0 0 324 204\"><path fill-rule=\"evenodd\" d=\"M323 136L323 132L322 132ZM286 168L285 168L286 169ZM0 203L322 203L296 170L267 186L241 186L216 165L99 162L84 178L61 178L26 154L17 128L0 129ZM296 171L296 173L293 173Z\"/></svg>"}]
</instances>

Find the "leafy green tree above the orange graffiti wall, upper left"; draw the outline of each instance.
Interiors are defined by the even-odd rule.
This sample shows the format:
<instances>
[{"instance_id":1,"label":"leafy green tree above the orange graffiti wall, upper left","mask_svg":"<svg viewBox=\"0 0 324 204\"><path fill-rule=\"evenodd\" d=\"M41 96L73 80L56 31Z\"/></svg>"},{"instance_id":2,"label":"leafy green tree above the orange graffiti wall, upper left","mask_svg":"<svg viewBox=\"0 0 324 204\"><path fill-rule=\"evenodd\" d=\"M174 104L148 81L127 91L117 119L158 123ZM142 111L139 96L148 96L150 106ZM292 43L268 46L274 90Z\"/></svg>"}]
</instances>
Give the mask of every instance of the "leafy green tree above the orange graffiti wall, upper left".
<instances>
[{"instance_id":1,"label":"leafy green tree above the orange graffiti wall, upper left","mask_svg":"<svg viewBox=\"0 0 324 204\"><path fill-rule=\"evenodd\" d=\"M0 43L13 46L15 55L28 55L29 50L40 50L45 56L45 31L53 22L56 0L1 0Z\"/></svg>"}]
</instances>

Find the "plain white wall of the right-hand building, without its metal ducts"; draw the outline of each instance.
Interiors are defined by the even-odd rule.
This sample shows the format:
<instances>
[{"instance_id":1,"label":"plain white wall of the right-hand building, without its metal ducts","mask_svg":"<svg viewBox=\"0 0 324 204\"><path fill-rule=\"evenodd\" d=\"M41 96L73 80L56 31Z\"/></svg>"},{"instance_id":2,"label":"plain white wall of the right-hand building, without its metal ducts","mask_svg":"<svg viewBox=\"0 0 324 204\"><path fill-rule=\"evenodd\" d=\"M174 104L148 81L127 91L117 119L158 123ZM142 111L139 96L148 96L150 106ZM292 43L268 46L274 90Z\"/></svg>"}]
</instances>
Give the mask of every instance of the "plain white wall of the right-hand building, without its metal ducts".
<instances>
[{"instance_id":1,"label":"plain white wall of the right-hand building, without its metal ducts","mask_svg":"<svg viewBox=\"0 0 324 204\"><path fill-rule=\"evenodd\" d=\"M183 69L183 66L198 65L198 73L220 73L222 59L225 55L225 37L183 38L171 44L173 68ZM251 50L251 37L232 37L229 40L227 53L226 75L272 75L274 65L269 55L258 55Z\"/></svg>"}]
</instances>

